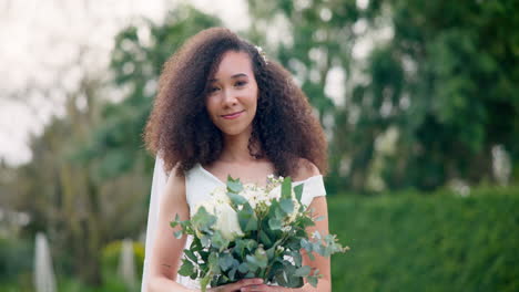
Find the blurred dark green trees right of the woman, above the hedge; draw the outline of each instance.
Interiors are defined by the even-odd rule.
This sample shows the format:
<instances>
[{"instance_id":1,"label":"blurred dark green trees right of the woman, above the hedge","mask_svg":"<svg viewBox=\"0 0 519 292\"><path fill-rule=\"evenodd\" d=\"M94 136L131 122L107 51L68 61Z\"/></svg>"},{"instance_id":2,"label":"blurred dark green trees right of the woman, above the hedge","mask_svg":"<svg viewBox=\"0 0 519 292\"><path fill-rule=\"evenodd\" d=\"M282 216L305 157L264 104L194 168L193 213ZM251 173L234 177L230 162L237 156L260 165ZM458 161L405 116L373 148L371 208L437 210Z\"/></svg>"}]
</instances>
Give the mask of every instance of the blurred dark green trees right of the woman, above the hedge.
<instances>
[{"instance_id":1,"label":"blurred dark green trees right of the woman, above the hedge","mask_svg":"<svg viewBox=\"0 0 519 292\"><path fill-rule=\"evenodd\" d=\"M252 39L269 44L281 34L269 51L302 83L330 134L329 188L495 181L496 145L518 166L518 2L356 2L248 1ZM375 48L355 60L353 48L366 38ZM325 94L333 70L346 75L344 105L335 107ZM394 150L377 149L394 129Z\"/></svg>"}]
</instances>

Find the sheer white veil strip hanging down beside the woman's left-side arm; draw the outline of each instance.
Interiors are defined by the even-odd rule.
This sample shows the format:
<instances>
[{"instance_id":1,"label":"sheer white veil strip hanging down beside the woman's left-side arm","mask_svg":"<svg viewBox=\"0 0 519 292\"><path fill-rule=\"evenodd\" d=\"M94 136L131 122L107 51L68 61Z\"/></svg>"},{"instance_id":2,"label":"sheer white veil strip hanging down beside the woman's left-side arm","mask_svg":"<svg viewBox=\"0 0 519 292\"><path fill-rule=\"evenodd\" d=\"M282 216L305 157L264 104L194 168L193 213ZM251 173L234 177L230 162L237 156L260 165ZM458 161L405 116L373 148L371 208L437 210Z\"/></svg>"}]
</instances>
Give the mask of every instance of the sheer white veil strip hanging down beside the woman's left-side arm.
<instances>
[{"instance_id":1,"label":"sheer white veil strip hanging down beside the woman's left-side arm","mask_svg":"<svg viewBox=\"0 0 519 292\"><path fill-rule=\"evenodd\" d=\"M153 248L153 241L155 240L155 229L159 220L159 211L161 207L161 196L164 192L164 188L167 181L167 176L164 170L164 160L156 155L155 168L153 170L153 180L151 188L151 199L150 199L150 209L147 212L147 228L146 228L146 242L145 242L145 253L144 253L144 265L142 271L142 285L141 292L147 291L147 273L149 273L149 262L150 254Z\"/></svg>"}]
</instances>

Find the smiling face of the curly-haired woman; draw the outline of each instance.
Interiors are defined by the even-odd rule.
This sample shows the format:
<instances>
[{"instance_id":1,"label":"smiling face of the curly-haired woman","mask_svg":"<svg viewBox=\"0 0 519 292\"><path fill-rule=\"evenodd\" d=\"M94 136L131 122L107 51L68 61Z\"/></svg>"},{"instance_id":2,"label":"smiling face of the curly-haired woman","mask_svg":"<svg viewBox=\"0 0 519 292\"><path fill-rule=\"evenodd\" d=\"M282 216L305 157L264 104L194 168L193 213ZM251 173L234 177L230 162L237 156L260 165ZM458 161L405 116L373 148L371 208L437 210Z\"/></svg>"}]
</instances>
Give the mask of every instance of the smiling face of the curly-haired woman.
<instances>
[{"instance_id":1,"label":"smiling face of the curly-haired woman","mask_svg":"<svg viewBox=\"0 0 519 292\"><path fill-rule=\"evenodd\" d=\"M257 107L257 83L247 53L224 53L208 81L205 106L211 121L225 135L251 133Z\"/></svg>"}]
</instances>

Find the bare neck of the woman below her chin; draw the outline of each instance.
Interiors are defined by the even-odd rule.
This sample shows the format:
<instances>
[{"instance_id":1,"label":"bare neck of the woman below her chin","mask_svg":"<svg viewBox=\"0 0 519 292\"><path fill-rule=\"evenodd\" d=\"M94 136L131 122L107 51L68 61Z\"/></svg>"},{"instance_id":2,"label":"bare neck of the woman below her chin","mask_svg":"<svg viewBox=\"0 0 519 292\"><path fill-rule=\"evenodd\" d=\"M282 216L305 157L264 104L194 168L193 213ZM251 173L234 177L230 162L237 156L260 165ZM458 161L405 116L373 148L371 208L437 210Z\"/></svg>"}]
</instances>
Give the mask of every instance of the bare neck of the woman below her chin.
<instances>
[{"instance_id":1,"label":"bare neck of the woman below her chin","mask_svg":"<svg viewBox=\"0 0 519 292\"><path fill-rule=\"evenodd\" d=\"M220 160L228 163L247 163L255 160L248 153L248 139L252 135L252 128L241 135L224 135L224 148Z\"/></svg>"}]
</instances>

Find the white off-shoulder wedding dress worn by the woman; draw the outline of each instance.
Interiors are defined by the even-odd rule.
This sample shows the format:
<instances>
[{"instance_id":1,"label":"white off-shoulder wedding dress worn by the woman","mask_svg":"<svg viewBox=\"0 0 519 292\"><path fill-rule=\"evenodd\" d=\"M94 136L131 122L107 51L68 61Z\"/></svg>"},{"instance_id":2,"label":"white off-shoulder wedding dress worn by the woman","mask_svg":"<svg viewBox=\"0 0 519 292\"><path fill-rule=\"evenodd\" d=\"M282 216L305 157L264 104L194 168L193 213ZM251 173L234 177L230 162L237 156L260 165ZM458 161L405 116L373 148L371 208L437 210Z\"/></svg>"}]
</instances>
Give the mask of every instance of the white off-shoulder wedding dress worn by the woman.
<instances>
[{"instance_id":1,"label":"white off-shoulder wedding dress worn by the woman","mask_svg":"<svg viewBox=\"0 0 519 292\"><path fill-rule=\"evenodd\" d=\"M293 186L297 186L301 184L304 184L302 202L305 206L308 206L315 197L326 196L326 189L324 186L323 176L320 175L309 177L305 180L294 181ZM205 168L202 167L202 165L200 164L195 165L185 175L185 196L186 196L187 205L190 207L190 212L191 213L194 212L194 208L197 202L210 200L211 192L216 187L225 186L225 185L226 184L224 181L220 180L216 176L207 171ZM185 243L186 249L191 246L191 242L192 242L192 238L191 236L189 236L186 243ZM150 251L151 249L146 247L146 252L150 252ZM145 278L145 275L143 278ZM176 278L176 281L186 288L200 289L200 282L197 280L192 280L189 277L183 277L179 274ZM144 291L145 290L144 290L144 284L143 284L142 292Z\"/></svg>"}]
</instances>

